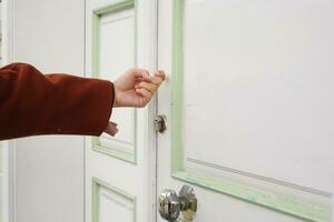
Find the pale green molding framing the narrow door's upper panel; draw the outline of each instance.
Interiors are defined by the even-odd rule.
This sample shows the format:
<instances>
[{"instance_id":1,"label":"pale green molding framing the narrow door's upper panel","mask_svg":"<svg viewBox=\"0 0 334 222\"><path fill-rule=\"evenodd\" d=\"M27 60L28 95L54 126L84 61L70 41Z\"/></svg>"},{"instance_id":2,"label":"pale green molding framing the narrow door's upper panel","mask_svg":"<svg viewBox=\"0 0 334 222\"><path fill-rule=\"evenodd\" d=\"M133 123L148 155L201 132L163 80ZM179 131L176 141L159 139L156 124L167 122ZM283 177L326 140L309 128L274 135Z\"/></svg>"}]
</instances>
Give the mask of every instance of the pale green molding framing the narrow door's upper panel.
<instances>
[{"instance_id":1,"label":"pale green molding framing the narrow door's upper panel","mask_svg":"<svg viewBox=\"0 0 334 222\"><path fill-rule=\"evenodd\" d=\"M91 73L95 78L100 77L100 71L99 71L99 23L100 23L100 18L104 14L109 14L109 13L117 13L124 10L128 9L134 9L135 10L135 67L137 67L137 1L136 0L124 0L119 1L117 3L114 3L111 6L107 6L97 10L92 11L92 28L91 28L91 33L92 33L92 57L91 57L91 62L92 62L92 70ZM112 139L111 139L112 140ZM129 163L137 164L137 110L134 109L134 151L132 152L125 152L122 151L121 147L115 147L115 145L101 145L100 139L99 138L92 138L92 150L111 155L114 158L117 158L119 160L124 160Z\"/></svg>"}]
</instances>

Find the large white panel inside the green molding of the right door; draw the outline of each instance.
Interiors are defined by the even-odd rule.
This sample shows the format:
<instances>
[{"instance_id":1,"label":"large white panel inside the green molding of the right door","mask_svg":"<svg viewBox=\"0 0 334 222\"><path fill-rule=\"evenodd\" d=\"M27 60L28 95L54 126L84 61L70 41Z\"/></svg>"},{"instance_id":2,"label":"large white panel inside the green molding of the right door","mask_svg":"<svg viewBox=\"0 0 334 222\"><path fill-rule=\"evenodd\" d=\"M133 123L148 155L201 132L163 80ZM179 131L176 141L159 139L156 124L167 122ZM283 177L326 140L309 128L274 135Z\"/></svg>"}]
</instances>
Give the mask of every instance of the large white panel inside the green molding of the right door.
<instances>
[{"instance_id":1,"label":"large white panel inside the green molding of the right door","mask_svg":"<svg viewBox=\"0 0 334 222\"><path fill-rule=\"evenodd\" d=\"M330 192L334 3L186 2L186 155Z\"/></svg>"}]
</instances>

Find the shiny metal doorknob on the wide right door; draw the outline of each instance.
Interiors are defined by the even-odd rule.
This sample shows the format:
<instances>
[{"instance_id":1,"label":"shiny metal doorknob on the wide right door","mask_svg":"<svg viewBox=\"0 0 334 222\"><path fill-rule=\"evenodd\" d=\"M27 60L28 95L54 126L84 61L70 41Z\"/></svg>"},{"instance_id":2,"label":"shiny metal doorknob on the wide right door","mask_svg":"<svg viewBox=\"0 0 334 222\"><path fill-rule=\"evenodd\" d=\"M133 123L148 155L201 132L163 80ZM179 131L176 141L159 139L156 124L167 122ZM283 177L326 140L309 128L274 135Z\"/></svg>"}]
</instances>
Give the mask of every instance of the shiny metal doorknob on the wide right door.
<instances>
[{"instance_id":1,"label":"shiny metal doorknob on the wide right door","mask_svg":"<svg viewBox=\"0 0 334 222\"><path fill-rule=\"evenodd\" d=\"M174 190L164 190L158 201L161 218L169 222L175 222L180 211L187 221L193 221L197 211L194 189L188 185L184 185L178 195Z\"/></svg>"}]
</instances>

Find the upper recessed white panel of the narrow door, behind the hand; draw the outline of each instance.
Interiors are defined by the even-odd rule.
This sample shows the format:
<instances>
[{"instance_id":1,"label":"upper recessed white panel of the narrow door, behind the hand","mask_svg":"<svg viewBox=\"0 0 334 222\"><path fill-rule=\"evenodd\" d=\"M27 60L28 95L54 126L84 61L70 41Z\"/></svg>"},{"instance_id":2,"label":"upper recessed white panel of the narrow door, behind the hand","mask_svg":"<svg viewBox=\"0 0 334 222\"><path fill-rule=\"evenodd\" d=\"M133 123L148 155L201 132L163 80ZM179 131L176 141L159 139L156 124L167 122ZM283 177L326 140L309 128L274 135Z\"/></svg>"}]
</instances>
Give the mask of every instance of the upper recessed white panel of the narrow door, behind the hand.
<instances>
[{"instance_id":1,"label":"upper recessed white panel of the narrow door, behind the hand","mask_svg":"<svg viewBox=\"0 0 334 222\"><path fill-rule=\"evenodd\" d=\"M109 11L95 12L97 27L94 29L97 33L94 53L98 58L94 68L96 77L115 80L126 69L136 67L137 34L134 7L135 4L125 4L119 11L112 12L116 8L110 7ZM132 108L115 109L112 121L117 122L121 130L115 138L104 134L95 144L96 150L135 162L136 110Z\"/></svg>"}]
</instances>

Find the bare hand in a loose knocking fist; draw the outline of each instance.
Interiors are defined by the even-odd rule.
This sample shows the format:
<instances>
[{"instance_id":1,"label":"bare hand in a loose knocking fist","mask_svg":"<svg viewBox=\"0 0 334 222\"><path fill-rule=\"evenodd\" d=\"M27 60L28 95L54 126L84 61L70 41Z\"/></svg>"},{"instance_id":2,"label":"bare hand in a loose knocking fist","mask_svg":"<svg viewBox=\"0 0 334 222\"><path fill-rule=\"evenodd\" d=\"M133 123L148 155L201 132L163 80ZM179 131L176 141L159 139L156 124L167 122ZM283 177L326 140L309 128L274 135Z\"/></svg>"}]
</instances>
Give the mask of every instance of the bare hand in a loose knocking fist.
<instances>
[{"instance_id":1,"label":"bare hand in a loose knocking fist","mask_svg":"<svg viewBox=\"0 0 334 222\"><path fill-rule=\"evenodd\" d=\"M164 71L156 71L155 75L150 77L147 70L128 70L114 82L114 107L145 107L165 78Z\"/></svg>"}]
</instances>

